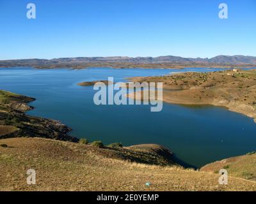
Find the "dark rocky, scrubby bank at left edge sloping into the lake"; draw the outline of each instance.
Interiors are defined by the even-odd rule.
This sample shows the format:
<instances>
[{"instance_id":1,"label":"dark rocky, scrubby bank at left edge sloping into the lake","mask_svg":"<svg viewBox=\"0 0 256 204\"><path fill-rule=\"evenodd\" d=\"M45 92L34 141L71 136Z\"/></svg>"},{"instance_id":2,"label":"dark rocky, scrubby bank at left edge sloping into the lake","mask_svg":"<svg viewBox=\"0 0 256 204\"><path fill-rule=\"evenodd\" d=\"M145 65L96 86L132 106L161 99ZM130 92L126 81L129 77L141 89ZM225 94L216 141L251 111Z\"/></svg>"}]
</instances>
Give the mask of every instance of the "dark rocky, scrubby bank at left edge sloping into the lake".
<instances>
[{"instance_id":1,"label":"dark rocky, scrubby bank at left edge sloping into the lake","mask_svg":"<svg viewBox=\"0 0 256 204\"><path fill-rule=\"evenodd\" d=\"M26 115L26 111L33 109L33 107L29 106L27 103L34 100L34 98L19 95L13 96L10 92L5 92L5 103L1 103L0 101L0 110L4 110L0 111L0 124L2 126L13 126L16 129L10 133L2 134L0 139L40 137L70 142L79 141L79 139L69 136L68 132L72 129L68 128L58 120Z\"/></svg>"}]
</instances>

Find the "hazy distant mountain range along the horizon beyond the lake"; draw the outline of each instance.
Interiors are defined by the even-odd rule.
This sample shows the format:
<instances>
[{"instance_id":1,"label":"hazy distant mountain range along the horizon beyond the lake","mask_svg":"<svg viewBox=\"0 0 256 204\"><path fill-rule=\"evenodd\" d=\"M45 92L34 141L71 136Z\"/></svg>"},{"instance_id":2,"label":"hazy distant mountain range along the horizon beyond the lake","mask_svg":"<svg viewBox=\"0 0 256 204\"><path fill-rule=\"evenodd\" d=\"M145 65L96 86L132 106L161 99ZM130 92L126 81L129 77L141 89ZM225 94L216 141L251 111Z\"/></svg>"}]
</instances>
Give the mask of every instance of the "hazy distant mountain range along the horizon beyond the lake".
<instances>
[{"instance_id":1,"label":"hazy distant mountain range along the horizon beyond the lake","mask_svg":"<svg viewBox=\"0 0 256 204\"><path fill-rule=\"evenodd\" d=\"M166 66L169 64L171 67L179 66L255 66L256 57L244 55L218 55L212 58L185 58L177 56L160 56L160 57L66 57L58 59L16 59L0 61L0 67L13 67L13 66L33 66L35 68L84 68L88 66L111 66L113 64L116 68L131 67L133 64L141 65L147 64L150 67ZM150 65L151 64L151 65Z\"/></svg>"}]
</instances>

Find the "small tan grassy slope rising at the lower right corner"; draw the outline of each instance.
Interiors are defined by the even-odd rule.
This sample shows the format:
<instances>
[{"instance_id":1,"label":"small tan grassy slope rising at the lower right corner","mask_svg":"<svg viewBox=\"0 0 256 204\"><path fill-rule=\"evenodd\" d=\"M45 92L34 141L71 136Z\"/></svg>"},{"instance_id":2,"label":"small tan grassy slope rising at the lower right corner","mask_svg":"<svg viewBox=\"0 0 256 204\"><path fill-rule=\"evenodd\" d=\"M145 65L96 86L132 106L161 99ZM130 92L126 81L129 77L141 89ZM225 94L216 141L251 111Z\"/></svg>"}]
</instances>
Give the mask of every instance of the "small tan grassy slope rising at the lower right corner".
<instances>
[{"instance_id":1,"label":"small tan grassy slope rising at the lower right corner","mask_svg":"<svg viewBox=\"0 0 256 204\"><path fill-rule=\"evenodd\" d=\"M200 170L216 172L223 168L234 177L256 181L256 152L216 161L203 166Z\"/></svg>"}]
</instances>

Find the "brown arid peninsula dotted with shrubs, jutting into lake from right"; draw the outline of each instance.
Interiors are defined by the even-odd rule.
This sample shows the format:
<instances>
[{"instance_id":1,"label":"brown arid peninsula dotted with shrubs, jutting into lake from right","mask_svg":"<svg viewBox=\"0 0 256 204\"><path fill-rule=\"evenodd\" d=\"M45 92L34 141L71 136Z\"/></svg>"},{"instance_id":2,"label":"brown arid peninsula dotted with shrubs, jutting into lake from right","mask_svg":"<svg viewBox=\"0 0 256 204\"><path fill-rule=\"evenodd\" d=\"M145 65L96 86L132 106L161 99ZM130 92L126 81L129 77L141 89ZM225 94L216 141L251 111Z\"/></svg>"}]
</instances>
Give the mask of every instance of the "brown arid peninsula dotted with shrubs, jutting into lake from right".
<instances>
[{"instance_id":1,"label":"brown arid peninsula dotted with shrubs, jutting into lake from right","mask_svg":"<svg viewBox=\"0 0 256 204\"><path fill-rule=\"evenodd\" d=\"M256 69L188 72L163 77L136 77L131 80L163 82L163 101L166 103L224 106L256 119Z\"/></svg>"}]
</instances>

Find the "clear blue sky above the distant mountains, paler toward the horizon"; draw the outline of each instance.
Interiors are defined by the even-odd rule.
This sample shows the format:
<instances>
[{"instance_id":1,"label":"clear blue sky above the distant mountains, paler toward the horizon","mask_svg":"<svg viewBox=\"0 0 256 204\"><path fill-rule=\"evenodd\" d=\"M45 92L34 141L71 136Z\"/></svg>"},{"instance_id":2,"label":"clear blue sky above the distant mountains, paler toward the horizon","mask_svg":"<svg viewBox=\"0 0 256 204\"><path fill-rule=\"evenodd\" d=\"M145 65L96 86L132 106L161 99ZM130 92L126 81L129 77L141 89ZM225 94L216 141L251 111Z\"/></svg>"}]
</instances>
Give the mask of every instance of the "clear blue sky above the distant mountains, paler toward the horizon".
<instances>
[{"instance_id":1,"label":"clear blue sky above the distant mountains, paler toward the horizon","mask_svg":"<svg viewBox=\"0 0 256 204\"><path fill-rule=\"evenodd\" d=\"M0 0L0 59L256 56L255 24L255 0Z\"/></svg>"}]
</instances>

